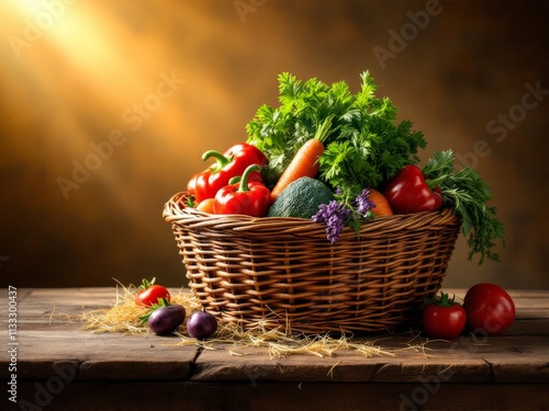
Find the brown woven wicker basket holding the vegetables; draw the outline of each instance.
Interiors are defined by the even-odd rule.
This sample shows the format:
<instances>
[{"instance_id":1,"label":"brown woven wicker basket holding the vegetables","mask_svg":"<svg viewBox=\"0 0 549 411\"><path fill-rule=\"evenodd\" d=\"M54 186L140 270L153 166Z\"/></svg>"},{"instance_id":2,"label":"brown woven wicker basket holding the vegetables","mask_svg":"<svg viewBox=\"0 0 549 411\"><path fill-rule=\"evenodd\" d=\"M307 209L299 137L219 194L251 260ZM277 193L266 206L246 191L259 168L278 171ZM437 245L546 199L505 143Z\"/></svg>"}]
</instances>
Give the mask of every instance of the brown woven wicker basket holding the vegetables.
<instances>
[{"instance_id":1,"label":"brown woven wicker basket holding the vegetables","mask_svg":"<svg viewBox=\"0 0 549 411\"><path fill-rule=\"evenodd\" d=\"M301 218L164 209L189 287L219 321L304 333L372 332L417 319L440 288L460 221L451 209L378 217L338 241Z\"/></svg>"}]
</instances>

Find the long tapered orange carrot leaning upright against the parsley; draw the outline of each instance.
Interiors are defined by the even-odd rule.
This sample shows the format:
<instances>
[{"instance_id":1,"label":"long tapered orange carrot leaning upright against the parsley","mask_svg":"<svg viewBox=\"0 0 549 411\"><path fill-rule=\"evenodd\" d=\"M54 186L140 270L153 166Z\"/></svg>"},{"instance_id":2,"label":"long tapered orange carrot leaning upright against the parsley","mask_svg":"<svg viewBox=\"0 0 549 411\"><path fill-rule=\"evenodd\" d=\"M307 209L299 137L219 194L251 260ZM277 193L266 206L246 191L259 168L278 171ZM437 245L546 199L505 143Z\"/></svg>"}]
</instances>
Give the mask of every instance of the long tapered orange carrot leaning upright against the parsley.
<instances>
[{"instance_id":1,"label":"long tapered orange carrot leaning upright against the parsley","mask_svg":"<svg viewBox=\"0 0 549 411\"><path fill-rule=\"evenodd\" d=\"M277 199L279 194L282 193L290 183L293 183L302 176L314 178L316 175L321 167L318 158L324 152L324 144L322 140L330 129L332 119L333 116L327 117L316 129L315 136L300 147L292 161L290 161L290 164L288 164L280 175L277 184L274 184L271 191L271 203Z\"/></svg>"}]
</instances>

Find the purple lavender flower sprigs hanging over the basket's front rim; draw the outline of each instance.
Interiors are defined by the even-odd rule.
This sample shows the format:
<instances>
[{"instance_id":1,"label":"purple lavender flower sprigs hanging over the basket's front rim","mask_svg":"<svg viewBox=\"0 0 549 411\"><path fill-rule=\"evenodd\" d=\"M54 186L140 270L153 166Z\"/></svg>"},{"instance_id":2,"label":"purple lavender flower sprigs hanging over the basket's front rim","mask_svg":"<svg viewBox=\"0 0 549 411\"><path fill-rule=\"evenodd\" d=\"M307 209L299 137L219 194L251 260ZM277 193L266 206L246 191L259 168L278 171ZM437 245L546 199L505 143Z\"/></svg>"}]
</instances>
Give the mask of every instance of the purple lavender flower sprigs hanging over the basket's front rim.
<instances>
[{"instance_id":1,"label":"purple lavender flower sprigs hanging over the basket's front rim","mask_svg":"<svg viewBox=\"0 0 549 411\"><path fill-rule=\"evenodd\" d=\"M328 204L321 204L318 212L312 219L315 222L326 224L326 237L332 243L339 239L339 235L346 226L352 227L358 235L361 222L374 217L371 209L376 205L369 199L369 196L370 191L365 189L360 195L349 202L349 195L343 194L338 189L335 193L337 199L333 199Z\"/></svg>"}]
</instances>

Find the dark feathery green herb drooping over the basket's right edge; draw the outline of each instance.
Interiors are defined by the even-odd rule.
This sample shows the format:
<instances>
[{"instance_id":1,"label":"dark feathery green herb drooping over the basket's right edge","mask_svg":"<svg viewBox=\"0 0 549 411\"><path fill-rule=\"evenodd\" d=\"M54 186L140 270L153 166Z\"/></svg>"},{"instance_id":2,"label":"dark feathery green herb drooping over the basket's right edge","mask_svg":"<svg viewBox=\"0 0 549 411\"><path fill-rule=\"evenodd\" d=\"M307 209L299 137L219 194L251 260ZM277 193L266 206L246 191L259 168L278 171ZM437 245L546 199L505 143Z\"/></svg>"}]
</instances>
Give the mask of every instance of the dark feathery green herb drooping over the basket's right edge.
<instances>
[{"instance_id":1,"label":"dark feathery green herb drooping over the basket's right edge","mask_svg":"<svg viewBox=\"0 0 549 411\"><path fill-rule=\"evenodd\" d=\"M479 264L484 258L500 261L492 249L496 240L505 244L504 228L496 219L496 208L488 206L492 199L490 186L471 167L455 171L455 160L452 150L437 151L423 173L432 187L440 187L446 204L461 217L461 231L468 237L469 260L479 253Z\"/></svg>"}]
</instances>

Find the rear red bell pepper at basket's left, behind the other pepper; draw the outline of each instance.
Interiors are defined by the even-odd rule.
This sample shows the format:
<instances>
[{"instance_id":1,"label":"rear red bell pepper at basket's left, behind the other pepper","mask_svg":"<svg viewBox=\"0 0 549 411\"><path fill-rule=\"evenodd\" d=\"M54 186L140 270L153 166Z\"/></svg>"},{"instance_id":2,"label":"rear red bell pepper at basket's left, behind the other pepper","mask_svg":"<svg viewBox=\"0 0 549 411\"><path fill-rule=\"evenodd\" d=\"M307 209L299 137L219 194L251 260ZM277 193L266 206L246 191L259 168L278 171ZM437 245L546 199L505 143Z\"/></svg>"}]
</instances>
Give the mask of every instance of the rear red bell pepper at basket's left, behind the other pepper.
<instances>
[{"instance_id":1,"label":"rear red bell pepper at basket's left, behind the other pepper","mask_svg":"<svg viewBox=\"0 0 549 411\"><path fill-rule=\"evenodd\" d=\"M206 170L194 174L187 184L187 191L194 196L197 203L215 197L217 191L228 184L228 181L242 175L251 164L265 165L269 159L257 148L246 142L237 144L221 153L215 150L205 151L202 160L215 159L215 163ZM249 181L262 181L261 172L255 171Z\"/></svg>"}]
</instances>

